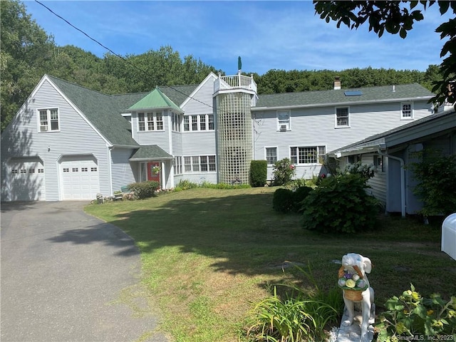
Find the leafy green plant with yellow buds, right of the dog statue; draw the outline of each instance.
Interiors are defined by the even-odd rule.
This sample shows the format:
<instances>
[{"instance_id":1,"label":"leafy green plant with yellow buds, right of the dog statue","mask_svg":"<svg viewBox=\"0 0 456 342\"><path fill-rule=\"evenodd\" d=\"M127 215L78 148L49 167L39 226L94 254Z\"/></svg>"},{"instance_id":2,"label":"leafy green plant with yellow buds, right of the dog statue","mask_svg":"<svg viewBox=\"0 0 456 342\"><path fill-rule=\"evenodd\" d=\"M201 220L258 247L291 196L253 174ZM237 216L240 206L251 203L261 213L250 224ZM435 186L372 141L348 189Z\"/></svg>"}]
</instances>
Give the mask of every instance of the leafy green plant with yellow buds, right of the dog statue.
<instances>
[{"instance_id":1,"label":"leafy green plant with yellow buds, right of the dog statue","mask_svg":"<svg viewBox=\"0 0 456 342\"><path fill-rule=\"evenodd\" d=\"M439 294L425 298L410 285L410 290L401 296L388 299L385 309L375 326L378 342L423 340L425 336L434 336L427 341L454 341L456 338L456 296L450 301Z\"/></svg>"}]
</instances>

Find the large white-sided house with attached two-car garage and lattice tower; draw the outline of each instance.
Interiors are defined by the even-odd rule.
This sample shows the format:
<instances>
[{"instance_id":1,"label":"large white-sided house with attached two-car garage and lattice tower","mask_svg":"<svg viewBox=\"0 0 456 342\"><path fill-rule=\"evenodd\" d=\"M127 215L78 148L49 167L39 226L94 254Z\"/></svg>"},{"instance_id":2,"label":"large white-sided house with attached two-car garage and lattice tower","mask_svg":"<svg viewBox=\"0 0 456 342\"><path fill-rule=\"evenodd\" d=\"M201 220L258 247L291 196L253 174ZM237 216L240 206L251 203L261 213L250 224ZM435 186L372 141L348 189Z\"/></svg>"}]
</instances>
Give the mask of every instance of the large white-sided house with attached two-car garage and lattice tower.
<instances>
[{"instance_id":1,"label":"large white-sided house with attached two-car garage and lattice tower","mask_svg":"<svg viewBox=\"0 0 456 342\"><path fill-rule=\"evenodd\" d=\"M252 76L210 73L105 95L45 75L1 135L1 199L93 199L143 180L247 183L252 160L268 160L271 179L284 157L310 178L329 151L433 113L418 84L333 88L257 95Z\"/></svg>"}]
</instances>

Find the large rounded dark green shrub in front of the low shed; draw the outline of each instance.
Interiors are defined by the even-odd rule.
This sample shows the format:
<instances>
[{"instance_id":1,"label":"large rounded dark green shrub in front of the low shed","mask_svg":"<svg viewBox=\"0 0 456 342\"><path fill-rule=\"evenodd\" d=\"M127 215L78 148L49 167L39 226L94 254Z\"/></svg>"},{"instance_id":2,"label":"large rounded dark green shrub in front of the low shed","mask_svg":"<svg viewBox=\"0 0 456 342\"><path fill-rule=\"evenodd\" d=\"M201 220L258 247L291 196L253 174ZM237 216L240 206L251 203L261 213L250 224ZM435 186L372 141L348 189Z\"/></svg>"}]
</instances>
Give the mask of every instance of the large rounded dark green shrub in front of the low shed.
<instances>
[{"instance_id":1,"label":"large rounded dark green shrub in front of the low shed","mask_svg":"<svg viewBox=\"0 0 456 342\"><path fill-rule=\"evenodd\" d=\"M366 193L361 175L326 177L302 202L304 227L320 232L355 233L375 227L378 201Z\"/></svg>"}]
</instances>

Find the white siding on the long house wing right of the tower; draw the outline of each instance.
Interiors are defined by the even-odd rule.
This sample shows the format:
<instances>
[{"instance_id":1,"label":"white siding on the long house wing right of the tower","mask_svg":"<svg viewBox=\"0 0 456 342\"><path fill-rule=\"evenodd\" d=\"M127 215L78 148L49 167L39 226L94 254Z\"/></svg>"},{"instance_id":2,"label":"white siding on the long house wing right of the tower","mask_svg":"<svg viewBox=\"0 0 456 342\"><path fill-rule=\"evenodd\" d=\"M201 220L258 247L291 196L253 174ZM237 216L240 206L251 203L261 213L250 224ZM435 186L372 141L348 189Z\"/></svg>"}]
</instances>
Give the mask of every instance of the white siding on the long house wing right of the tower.
<instances>
[{"instance_id":1,"label":"white siding on the long house wing right of the tower","mask_svg":"<svg viewBox=\"0 0 456 342\"><path fill-rule=\"evenodd\" d=\"M254 159L264 159L265 146L277 146L277 160L290 157L291 146L326 146L326 152L371 135L396 128L410 120L400 120L400 102L349 105L350 127L336 128L335 106L291 110L291 130L277 130L276 110L254 112ZM415 101L414 120L430 115L426 101ZM318 166L299 165L296 177L318 175ZM271 167L269 167L269 175Z\"/></svg>"}]
</instances>

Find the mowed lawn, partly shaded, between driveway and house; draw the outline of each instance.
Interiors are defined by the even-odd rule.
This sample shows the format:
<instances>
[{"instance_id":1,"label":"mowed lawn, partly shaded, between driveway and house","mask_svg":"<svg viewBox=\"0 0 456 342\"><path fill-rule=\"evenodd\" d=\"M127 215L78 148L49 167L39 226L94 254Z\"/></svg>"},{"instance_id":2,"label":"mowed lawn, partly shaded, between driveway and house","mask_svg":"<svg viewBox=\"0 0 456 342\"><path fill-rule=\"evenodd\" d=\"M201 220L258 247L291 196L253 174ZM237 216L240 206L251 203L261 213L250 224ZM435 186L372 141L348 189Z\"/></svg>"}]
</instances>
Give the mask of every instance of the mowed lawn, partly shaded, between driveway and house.
<instances>
[{"instance_id":1,"label":"mowed lawn, partly shaded, between driveway and house","mask_svg":"<svg viewBox=\"0 0 456 342\"><path fill-rule=\"evenodd\" d=\"M335 260L348 252L369 257L378 311L410 283L423 295L456 295L456 261L440 252L440 222L379 214L370 232L318 234L301 227L299 214L274 212L275 190L197 188L86 212L135 239L142 281L160 305L162 331L175 341L243 341L244 318L271 295L271 284L310 286L296 269L282 269L284 261L309 264L328 289L337 282Z\"/></svg>"}]
</instances>

